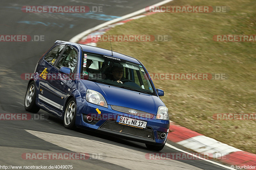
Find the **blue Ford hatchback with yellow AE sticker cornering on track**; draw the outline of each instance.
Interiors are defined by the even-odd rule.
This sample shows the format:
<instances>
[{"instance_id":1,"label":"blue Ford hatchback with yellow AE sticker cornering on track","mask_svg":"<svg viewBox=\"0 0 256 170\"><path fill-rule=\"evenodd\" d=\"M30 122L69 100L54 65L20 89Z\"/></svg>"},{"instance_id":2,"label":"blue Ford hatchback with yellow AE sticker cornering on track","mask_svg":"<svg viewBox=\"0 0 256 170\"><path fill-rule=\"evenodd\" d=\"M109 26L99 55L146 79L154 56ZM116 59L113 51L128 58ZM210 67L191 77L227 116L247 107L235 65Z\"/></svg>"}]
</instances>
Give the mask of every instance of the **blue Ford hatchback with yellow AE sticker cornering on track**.
<instances>
[{"instance_id":1,"label":"blue Ford hatchback with yellow AE sticker cornering on track","mask_svg":"<svg viewBox=\"0 0 256 170\"><path fill-rule=\"evenodd\" d=\"M28 82L25 109L43 109L65 128L96 130L164 148L168 108L143 64L112 50L56 41L37 62Z\"/></svg>"}]
</instances>

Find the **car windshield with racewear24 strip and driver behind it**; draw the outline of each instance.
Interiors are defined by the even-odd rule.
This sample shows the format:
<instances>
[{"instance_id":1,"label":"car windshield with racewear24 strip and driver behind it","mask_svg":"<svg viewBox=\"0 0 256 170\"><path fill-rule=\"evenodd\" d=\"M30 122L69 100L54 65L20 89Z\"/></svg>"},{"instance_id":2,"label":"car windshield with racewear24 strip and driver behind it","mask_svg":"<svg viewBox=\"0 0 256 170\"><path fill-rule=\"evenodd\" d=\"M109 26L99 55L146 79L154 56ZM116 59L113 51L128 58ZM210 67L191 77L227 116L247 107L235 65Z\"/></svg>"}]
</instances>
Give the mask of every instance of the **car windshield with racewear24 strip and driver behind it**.
<instances>
[{"instance_id":1,"label":"car windshield with racewear24 strip and driver behind it","mask_svg":"<svg viewBox=\"0 0 256 170\"><path fill-rule=\"evenodd\" d=\"M156 95L142 65L87 52L82 57L82 79Z\"/></svg>"}]
</instances>

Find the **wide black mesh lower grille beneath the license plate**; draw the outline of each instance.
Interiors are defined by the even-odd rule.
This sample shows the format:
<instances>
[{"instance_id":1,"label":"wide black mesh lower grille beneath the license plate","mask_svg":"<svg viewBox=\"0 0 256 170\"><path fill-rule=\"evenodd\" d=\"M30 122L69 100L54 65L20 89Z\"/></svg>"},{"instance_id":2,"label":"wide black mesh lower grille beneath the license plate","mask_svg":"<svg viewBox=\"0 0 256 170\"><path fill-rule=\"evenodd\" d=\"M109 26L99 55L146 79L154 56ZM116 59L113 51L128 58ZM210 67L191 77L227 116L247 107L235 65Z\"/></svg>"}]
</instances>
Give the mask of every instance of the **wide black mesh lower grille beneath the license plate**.
<instances>
[{"instance_id":1,"label":"wide black mesh lower grille beneath the license plate","mask_svg":"<svg viewBox=\"0 0 256 170\"><path fill-rule=\"evenodd\" d=\"M129 134L137 137L143 137L147 139L154 139L153 132L146 129L132 128L126 125L121 125L113 122L106 122L101 129L107 129L115 132Z\"/></svg>"}]
</instances>

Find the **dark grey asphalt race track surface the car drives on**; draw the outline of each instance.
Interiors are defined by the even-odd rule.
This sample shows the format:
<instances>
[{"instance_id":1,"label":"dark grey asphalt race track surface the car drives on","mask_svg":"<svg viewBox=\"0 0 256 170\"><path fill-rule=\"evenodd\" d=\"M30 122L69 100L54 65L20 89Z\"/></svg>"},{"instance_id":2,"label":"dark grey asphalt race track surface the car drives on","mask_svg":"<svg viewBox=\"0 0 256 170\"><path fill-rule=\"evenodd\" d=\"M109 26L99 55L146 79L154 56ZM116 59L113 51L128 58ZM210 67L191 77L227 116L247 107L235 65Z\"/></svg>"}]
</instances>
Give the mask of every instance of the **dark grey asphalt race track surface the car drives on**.
<instances>
[{"instance_id":1,"label":"dark grey asphalt race track surface the car drives on","mask_svg":"<svg viewBox=\"0 0 256 170\"><path fill-rule=\"evenodd\" d=\"M1 0L1 33L43 36L44 41L0 42L0 113L28 113L24 96L38 59L56 40L68 41L78 33L108 20L140 10L160 0ZM25 13L25 5L102 6L103 13ZM143 61L142 61L143 62ZM37 115L40 114L39 118ZM148 160L145 144L97 134L83 129L65 129L62 121L40 110L36 120L0 121L0 165L72 165L73 169L225 169L204 160ZM39 119L39 120L38 120ZM186 150L172 142L180 149ZM89 153L88 160L26 160L24 153ZM165 146L162 153L178 153ZM98 159L96 159L98 158ZM22 168L23 169L23 168Z\"/></svg>"}]
</instances>

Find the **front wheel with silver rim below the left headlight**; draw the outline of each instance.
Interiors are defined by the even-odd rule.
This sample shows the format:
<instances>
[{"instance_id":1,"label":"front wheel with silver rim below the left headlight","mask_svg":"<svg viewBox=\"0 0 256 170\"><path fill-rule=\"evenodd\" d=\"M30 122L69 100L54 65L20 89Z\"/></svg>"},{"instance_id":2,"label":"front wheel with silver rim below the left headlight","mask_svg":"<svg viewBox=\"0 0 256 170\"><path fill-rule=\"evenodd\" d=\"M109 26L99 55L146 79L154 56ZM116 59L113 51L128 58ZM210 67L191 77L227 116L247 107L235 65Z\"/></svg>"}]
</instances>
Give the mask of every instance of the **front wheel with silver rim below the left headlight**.
<instances>
[{"instance_id":1,"label":"front wheel with silver rim below the left headlight","mask_svg":"<svg viewBox=\"0 0 256 170\"><path fill-rule=\"evenodd\" d=\"M65 113L63 117L64 127L67 129L75 129L76 125L76 102L74 99L68 100L65 107Z\"/></svg>"}]
</instances>

